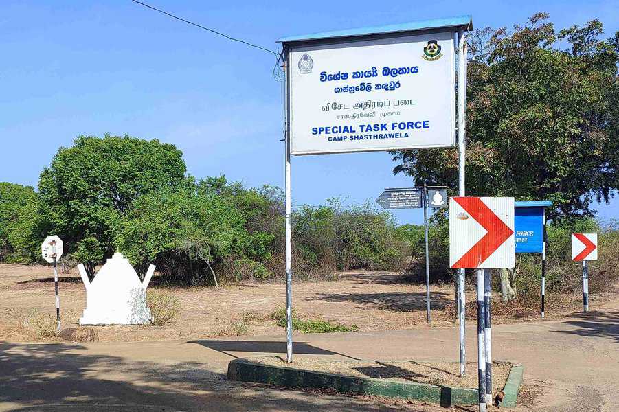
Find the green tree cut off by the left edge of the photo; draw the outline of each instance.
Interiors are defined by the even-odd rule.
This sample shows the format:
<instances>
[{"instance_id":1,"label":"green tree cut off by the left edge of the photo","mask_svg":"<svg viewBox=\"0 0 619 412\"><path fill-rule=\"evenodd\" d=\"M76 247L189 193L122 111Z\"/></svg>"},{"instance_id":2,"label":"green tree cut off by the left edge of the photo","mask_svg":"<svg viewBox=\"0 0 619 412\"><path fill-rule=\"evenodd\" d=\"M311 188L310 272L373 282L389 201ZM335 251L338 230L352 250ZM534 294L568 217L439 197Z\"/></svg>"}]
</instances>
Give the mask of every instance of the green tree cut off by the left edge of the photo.
<instances>
[{"instance_id":1,"label":"green tree cut off by the left edge of the photo","mask_svg":"<svg viewBox=\"0 0 619 412\"><path fill-rule=\"evenodd\" d=\"M10 233L16 228L20 212L35 200L32 186L0 182L0 261L15 251Z\"/></svg>"}]
</instances>

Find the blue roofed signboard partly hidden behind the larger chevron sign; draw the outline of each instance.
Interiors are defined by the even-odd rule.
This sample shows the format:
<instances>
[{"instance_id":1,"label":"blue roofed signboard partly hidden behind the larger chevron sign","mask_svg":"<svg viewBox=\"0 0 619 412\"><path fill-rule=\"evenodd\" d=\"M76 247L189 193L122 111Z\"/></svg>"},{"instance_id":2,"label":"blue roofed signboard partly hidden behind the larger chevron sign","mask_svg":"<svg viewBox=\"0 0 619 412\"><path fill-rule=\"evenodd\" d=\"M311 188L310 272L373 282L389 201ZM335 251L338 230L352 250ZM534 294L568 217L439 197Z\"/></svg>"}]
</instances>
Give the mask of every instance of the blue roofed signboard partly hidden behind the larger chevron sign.
<instances>
[{"instance_id":1,"label":"blue roofed signboard partly hidden behind the larger chevron sign","mask_svg":"<svg viewBox=\"0 0 619 412\"><path fill-rule=\"evenodd\" d=\"M515 203L516 253L542 253L543 223L547 201Z\"/></svg>"}]
</instances>

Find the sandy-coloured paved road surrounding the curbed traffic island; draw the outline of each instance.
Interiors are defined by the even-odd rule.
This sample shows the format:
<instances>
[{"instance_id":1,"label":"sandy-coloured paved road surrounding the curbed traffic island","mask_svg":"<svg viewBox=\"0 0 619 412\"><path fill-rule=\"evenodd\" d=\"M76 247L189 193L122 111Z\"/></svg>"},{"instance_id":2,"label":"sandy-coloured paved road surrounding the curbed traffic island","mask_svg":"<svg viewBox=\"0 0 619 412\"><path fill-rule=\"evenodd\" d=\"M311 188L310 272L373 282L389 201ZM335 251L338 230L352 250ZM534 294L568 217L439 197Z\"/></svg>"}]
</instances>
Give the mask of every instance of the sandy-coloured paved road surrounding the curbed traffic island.
<instances>
[{"instance_id":1,"label":"sandy-coloured paved road surrounding the curbed traffic island","mask_svg":"<svg viewBox=\"0 0 619 412\"><path fill-rule=\"evenodd\" d=\"M475 361L473 322L470 326L466 345ZM281 339L284 334L189 342L0 343L0 411L445 411L225 380L230 359L282 354ZM296 339L298 356L457 359L456 328ZM495 359L524 364L528 383L543 381L539 402L518 411L619 410L616 302L567 321L497 325L493 353Z\"/></svg>"}]
</instances>

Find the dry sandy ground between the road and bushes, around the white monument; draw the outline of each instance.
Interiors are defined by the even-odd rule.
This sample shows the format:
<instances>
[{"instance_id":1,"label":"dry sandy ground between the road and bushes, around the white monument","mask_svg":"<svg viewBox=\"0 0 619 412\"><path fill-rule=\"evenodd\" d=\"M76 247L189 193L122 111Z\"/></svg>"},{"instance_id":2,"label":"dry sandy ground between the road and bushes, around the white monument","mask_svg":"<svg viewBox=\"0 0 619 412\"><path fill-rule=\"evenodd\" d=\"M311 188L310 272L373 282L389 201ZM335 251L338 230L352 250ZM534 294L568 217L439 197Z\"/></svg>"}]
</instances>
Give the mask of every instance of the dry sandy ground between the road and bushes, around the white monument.
<instances>
[{"instance_id":1,"label":"dry sandy ground between the road and bushes, around the white monument","mask_svg":"<svg viewBox=\"0 0 619 412\"><path fill-rule=\"evenodd\" d=\"M271 312L285 304L284 284L229 284L221 290L203 286L169 288L157 277L151 290L179 299L181 312L165 326L97 327L100 341L152 341L200 339L221 336L256 336L282 332ZM77 273L60 274L60 307L63 328L78 325L85 308L85 288ZM453 325L453 285L431 285L432 325ZM467 292L467 313L475 316L475 295ZM592 299L595 299L593 297ZM499 300L497 296L495 300ZM360 332L417 328L426 325L425 286L403 284L397 273L355 271L340 273L337 282L296 282L293 304L303 319L324 319L357 325ZM547 319L563 319L579 310L578 301L556 307L548 302ZM469 308L470 306L470 308ZM21 325L32 310L55 315L54 282L49 266L0 264L0 333L5 339L41 341L32 328ZM537 319L535 312L510 310L493 322L510 323ZM52 339L53 340L53 339Z\"/></svg>"}]
</instances>

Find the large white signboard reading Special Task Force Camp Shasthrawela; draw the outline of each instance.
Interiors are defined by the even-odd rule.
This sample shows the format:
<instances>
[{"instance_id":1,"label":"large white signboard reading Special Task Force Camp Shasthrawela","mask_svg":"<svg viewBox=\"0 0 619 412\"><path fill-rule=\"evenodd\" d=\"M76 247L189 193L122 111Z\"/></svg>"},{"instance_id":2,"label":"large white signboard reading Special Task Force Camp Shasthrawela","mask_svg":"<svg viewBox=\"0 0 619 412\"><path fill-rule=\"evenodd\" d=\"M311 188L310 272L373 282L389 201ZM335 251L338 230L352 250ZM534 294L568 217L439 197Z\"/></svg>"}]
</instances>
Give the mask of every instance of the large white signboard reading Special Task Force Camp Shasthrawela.
<instances>
[{"instance_id":1,"label":"large white signboard reading Special Task Force Camp Shasthrawela","mask_svg":"<svg viewBox=\"0 0 619 412\"><path fill-rule=\"evenodd\" d=\"M452 36L293 47L291 153L454 146Z\"/></svg>"}]
</instances>

